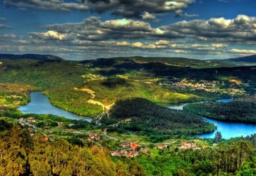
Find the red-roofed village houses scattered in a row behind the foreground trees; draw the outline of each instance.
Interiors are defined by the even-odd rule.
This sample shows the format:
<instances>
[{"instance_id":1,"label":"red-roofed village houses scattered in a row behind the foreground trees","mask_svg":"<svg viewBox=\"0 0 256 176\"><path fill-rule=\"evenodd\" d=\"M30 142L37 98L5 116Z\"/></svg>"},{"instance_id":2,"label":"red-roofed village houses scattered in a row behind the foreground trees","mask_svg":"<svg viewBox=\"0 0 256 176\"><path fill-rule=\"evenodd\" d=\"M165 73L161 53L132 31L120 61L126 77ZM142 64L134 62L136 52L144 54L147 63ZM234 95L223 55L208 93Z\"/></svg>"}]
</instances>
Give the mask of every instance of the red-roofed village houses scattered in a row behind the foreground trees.
<instances>
[{"instance_id":1,"label":"red-roofed village houses scattered in a row behind the foreground trees","mask_svg":"<svg viewBox=\"0 0 256 176\"><path fill-rule=\"evenodd\" d=\"M34 136L38 131L40 131L40 134L43 135L43 140L51 140L53 141L54 138L50 138L49 135L53 134L55 131L52 129L49 129L49 127L46 126L44 130L42 131L40 128L36 127L36 119L34 117L28 117L28 118L19 118L19 124L20 126L23 126L27 131L28 135ZM59 121L57 122L58 126L57 128L63 129L63 122ZM77 132L75 132L77 133ZM85 132L80 132L80 134L86 135ZM79 138L80 141L83 143L92 143L94 145L100 145L101 141L104 138L109 138L113 140L118 140L113 137L108 136L108 131L107 128L104 129L102 134L99 133L90 133L88 135L88 138L84 140L84 138ZM149 144L148 144L149 145ZM152 149L155 150L163 150L163 149L169 149L170 144L151 144ZM198 146L196 143L193 142L188 142L188 141L182 141L179 144L172 144L178 149L205 149L208 147L208 145L203 145L203 146ZM143 147L142 147L143 146ZM132 141L123 141L118 145L118 147L115 150L109 151L111 156L118 157L118 156L123 156L123 157L136 157L138 156L139 153L144 153L148 154L150 151L150 147L145 147L146 145L143 143L143 145L132 142ZM174 147L173 146L173 147Z\"/></svg>"}]
</instances>

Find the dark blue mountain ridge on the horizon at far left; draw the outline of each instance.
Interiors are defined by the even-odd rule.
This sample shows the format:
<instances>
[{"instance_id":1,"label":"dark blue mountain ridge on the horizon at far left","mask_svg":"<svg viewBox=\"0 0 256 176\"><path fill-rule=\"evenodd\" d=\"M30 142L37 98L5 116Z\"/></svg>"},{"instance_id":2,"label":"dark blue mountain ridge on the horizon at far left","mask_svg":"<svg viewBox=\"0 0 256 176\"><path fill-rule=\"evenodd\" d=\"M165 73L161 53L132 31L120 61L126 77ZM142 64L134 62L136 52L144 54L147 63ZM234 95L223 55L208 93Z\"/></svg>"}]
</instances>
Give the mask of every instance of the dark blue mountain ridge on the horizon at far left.
<instances>
[{"instance_id":1,"label":"dark blue mountain ridge on the horizon at far left","mask_svg":"<svg viewBox=\"0 0 256 176\"><path fill-rule=\"evenodd\" d=\"M39 61L62 61L61 57L56 55L41 54L0 54L0 59L36 59Z\"/></svg>"}]
</instances>

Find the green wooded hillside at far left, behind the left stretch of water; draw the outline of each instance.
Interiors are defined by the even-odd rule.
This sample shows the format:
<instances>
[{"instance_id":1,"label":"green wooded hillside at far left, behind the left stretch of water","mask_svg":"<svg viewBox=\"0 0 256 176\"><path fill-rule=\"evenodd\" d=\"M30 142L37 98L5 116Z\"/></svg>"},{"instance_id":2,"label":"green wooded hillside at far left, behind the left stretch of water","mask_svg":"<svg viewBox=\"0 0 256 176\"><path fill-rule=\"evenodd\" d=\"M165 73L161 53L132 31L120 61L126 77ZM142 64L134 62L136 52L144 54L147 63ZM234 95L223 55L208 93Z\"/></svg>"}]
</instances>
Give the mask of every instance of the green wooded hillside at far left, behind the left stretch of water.
<instances>
[{"instance_id":1,"label":"green wooded hillside at far left, behind the left stretch of water","mask_svg":"<svg viewBox=\"0 0 256 176\"><path fill-rule=\"evenodd\" d=\"M85 69L76 62L2 59L0 83L30 84L40 89L81 85Z\"/></svg>"}]
</instances>

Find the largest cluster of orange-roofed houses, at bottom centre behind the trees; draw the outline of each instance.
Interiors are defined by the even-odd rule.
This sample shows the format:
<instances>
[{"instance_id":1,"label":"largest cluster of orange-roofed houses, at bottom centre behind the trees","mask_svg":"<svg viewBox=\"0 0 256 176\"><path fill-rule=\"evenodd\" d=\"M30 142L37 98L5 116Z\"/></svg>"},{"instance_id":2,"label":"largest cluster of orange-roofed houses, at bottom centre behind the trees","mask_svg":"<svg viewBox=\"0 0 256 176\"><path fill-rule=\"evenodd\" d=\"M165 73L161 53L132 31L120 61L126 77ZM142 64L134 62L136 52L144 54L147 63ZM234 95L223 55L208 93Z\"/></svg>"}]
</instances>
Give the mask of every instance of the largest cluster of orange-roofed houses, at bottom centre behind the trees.
<instances>
[{"instance_id":1,"label":"largest cluster of orange-roofed houses, at bottom centre behind the trees","mask_svg":"<svg viewBox=\"0 0 256 176\"><path fill-rule=\"evenodd\" d=\"M110 151L110 154L112 156L125 156L125 157L135 157L139 154L137 151L137 147L140 147L141 145L137 143L121 143L119 145L120 147L123 148L129 148L129 149L121 149L121 150L116 150L116 151ZM142 149L143 150L143 149ZM141 149L140 149L141 151Z\"/></svg>"}]
</instances>

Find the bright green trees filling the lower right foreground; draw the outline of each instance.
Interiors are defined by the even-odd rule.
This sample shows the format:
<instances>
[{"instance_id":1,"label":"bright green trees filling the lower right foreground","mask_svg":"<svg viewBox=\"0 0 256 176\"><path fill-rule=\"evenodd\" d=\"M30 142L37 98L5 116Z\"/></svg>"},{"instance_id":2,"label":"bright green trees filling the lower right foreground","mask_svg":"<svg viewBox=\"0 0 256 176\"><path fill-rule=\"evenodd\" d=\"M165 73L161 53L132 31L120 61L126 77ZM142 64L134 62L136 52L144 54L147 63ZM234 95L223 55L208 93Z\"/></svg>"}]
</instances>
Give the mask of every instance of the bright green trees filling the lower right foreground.
<instances>
[{"instance_id":1,"label":"bright green trees filling the lower right foreground","mask_svg":"<svg viewBox=\"0 0 256 176\"><path fill-rule=\"evenodd\" d=\"M135 158L147 175L255 175L255 145L230 140L201 150L163 149L158 156Z\"/></svg>"}]
</instances>

